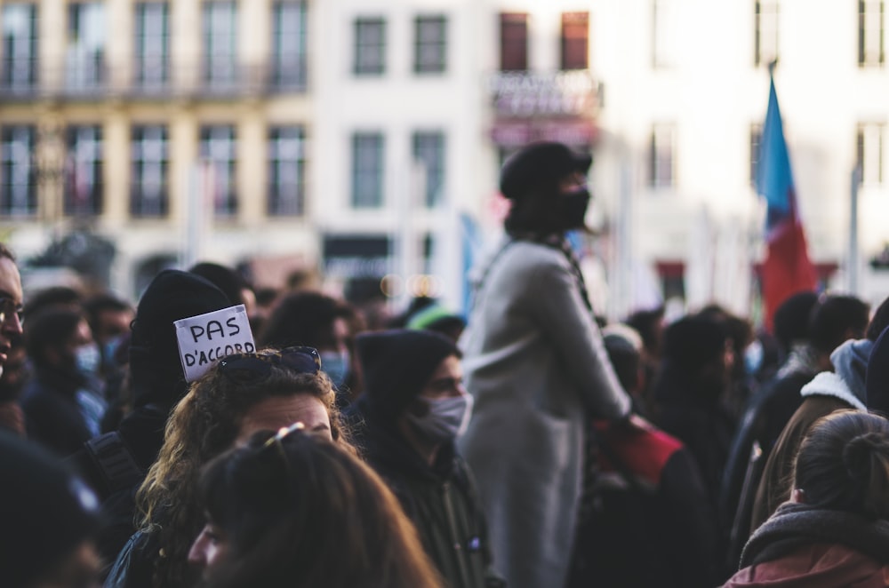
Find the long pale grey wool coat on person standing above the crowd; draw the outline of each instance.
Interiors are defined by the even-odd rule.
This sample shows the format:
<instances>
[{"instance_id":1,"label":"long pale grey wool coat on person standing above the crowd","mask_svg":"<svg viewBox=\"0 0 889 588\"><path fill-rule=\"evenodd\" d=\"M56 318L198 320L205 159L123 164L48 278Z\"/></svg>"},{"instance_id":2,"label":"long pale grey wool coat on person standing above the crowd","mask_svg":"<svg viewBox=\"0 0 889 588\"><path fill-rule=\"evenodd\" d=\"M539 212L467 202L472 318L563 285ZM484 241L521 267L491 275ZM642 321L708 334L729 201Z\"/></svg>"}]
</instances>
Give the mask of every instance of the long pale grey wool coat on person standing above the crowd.
<instances>
[{"instance_id":1,"label":"long pale grey wool coat on person standing above the crowd","mask_svg":"<svg viewBox=\"0 0 889 588\"><path fill-rule=\"evenodd\" d=\"M483 266L484 267L484 266ZM461 338L475 399L461 451L510 588L561 588L581 497L585 419L629 414L562 251L515 241L483 270Z\"/></svg>"}]
</instances>

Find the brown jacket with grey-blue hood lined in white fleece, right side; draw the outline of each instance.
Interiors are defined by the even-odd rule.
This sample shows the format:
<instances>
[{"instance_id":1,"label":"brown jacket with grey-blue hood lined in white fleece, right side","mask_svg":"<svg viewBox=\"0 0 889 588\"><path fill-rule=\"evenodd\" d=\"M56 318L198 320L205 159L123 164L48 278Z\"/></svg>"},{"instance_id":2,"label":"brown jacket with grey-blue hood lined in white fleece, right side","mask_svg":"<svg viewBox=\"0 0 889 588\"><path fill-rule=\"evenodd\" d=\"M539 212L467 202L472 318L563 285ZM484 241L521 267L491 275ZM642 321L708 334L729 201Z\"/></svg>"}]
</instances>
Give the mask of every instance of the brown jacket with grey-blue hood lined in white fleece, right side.
<instances>
[{"instance_id":1,"label":"brown jacket with grey-blue hood lined in white fleece, right side","mask_svg":"<svg viewBox=\"0 0 889 588\"><path fill-rule=\"evenodd\" d=\"M765 522L790 497L793 459L805 433L809 432L815 421L834 410L867 410L865 374L873 346L873 342L867 339L846 341L830 354L836 371L822 371L803 386L800 391L803 403L784 427L765 462L753 504L750 528L755 529Z\"/></svg>"}]
</instances>

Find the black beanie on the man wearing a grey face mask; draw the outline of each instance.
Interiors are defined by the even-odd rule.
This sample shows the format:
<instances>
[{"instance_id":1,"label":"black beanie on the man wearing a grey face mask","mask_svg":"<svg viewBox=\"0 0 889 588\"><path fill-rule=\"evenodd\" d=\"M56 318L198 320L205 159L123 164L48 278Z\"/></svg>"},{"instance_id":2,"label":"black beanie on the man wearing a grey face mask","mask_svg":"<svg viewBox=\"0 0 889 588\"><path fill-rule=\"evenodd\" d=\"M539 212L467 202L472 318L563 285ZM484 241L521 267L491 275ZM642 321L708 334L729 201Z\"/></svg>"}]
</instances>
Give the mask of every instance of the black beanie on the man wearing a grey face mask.
<instances>
[{"instance_id":1,"label":"black beanie on the man wearing a grey face mask","mask_svg":"<svg viewBox=\"0 0 889 588\"><path fill-rule=\"evenodd\" d=\"M355 345L367 400L389 421L417 397L438 364L451 355L460 357L451 339L428 330L362 333Z\"/></svg>"}]
</instances>

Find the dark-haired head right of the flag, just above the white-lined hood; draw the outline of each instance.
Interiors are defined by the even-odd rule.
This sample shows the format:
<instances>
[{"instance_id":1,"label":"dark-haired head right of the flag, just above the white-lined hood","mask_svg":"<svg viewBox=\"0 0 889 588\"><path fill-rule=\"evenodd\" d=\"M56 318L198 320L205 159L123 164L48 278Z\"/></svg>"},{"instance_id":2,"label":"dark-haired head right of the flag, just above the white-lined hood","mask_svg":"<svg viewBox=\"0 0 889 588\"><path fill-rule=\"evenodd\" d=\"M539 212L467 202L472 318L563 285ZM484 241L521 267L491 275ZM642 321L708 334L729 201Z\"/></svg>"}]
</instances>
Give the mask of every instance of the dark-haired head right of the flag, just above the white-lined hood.
<instances>
[{"instance_id":1,"label":"dark-haired head right of the flag, just above the white-lined hood","mask_svg":"<svg viewBox=\"0 0 889 588\"><path fill-rule=\"evenodd\" d=\"M869 306L854 296L828 296L814 307L809 339L815 350L829 354L847 339L860 339L868 328Z\"/></svg>"}]
</instances>

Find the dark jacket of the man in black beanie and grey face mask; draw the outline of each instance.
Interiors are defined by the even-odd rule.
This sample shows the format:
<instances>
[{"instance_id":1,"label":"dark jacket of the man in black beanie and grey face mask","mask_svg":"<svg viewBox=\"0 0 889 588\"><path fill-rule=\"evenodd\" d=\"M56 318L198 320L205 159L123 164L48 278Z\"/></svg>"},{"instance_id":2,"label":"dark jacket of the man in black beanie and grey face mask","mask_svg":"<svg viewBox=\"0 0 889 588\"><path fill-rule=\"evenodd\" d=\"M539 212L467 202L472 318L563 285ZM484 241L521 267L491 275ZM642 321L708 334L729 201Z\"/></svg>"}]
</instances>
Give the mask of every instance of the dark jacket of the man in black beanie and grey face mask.
<instances>
[{"instance_id":1,"label":"dark jacket of the man in black beanie and grey face mask","mask_svg":"<svg viewBox=\"0 0 889 588\"><path fill-rule=\"evenodd\" d=\"M429 465L404 436L376 416L366 398L348 410L354 442L398 497L448 588L503 588L493 571L475 482L453 442Z\"/></svg>"}]
</instances>

